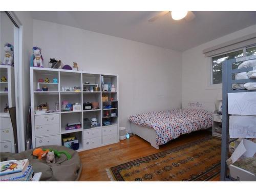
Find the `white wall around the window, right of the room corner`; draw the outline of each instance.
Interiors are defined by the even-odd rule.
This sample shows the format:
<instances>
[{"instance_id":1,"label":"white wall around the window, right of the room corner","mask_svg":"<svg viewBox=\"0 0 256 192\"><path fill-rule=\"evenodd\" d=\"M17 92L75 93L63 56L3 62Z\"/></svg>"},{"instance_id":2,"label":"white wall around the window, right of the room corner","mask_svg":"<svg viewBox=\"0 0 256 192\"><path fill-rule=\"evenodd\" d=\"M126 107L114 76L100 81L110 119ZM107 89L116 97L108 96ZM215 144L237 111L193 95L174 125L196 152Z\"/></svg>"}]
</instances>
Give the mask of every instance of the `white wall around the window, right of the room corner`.
<instances>
[{"instance_id":1,"label":"white wall around the window, right of the room corner","mask_svg":"<svg viewBox=\"0 0 256 192\"><path fill-rule=\"evenodd\" d=\"M207 88L208 59L204 57L203 50L255 33L255 31L256 25L253 25L184 51L182 53L182 102L191 100L217 104L218 93L222 90Z\"/></svg>"}]
</instances>

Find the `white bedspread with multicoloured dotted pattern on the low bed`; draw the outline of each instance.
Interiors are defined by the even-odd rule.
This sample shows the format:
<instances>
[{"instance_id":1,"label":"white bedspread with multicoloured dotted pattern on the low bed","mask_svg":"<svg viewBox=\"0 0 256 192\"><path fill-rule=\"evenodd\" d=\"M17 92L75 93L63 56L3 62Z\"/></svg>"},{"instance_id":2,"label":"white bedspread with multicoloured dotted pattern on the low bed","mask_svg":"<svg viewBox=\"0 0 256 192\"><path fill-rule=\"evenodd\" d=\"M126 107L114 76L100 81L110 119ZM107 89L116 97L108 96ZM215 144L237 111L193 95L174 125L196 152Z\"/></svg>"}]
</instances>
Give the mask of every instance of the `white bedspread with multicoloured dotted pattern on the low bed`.
<instances>
[{"instance_id":1,"label":"white bedspread with multicoloured dotted pattern on the low bed","mask_svg":"<svg viewBox=\"0 0 256 192\"><path fill-rule=\"evenodd\" d=\"M196 109L173 109L129 117L129 121L156 131L156 144L162 145L180 135L212 126L212 113Z\"/></svg>"}]
</instances>

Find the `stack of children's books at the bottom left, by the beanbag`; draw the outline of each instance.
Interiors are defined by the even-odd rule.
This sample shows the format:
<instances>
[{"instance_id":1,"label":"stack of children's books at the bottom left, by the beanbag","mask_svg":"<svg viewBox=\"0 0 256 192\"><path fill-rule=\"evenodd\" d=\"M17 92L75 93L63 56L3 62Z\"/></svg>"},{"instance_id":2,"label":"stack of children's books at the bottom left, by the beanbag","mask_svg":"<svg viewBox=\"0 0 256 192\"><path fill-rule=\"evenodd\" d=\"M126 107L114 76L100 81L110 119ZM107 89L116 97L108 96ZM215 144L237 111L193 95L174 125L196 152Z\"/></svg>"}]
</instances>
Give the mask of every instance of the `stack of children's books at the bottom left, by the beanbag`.
<instances>
[{"instance_id":1,"label":"stack of children's books at the bottom left, by the beanbag","mask_svg":"<svg viewBox=\"0 0 256 192\"><path fill-rule=\"evenodd\" d=\"M0 181L32 181L34 170L28 159L0 162Z\"/></svg>"}]
</instances>

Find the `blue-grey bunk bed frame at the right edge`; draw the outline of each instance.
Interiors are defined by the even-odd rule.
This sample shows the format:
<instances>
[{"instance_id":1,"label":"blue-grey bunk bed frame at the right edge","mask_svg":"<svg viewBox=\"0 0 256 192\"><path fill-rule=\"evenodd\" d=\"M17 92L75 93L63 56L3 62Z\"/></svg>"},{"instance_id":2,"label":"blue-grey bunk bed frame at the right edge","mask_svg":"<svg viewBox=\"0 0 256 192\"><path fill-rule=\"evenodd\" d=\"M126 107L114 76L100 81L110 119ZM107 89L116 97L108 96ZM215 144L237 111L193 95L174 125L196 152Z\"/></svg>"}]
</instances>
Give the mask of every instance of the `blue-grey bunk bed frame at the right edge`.
<instances>
[{"instance_id":1,"label":"blue-grey bunk bed frame at the right edge","mask_svg":"<svg viewBox=\"0 0 256 192\"><path fill-rule=\"evenodd\" d=\"M229 145L229 114L228 114L228 93L241 93L241 92L256 92L256 90L234 90L232 85L236 83L256 82L256 78L248 79L234 79L233 74L242 72L249 72L253 70L253 67L244 69L233 69L233 63L244 62L248 60L256 59L256 55L229 59L223 62L222 65L222 147L221 147L221 181L237 181L237 179L228 176L228 167L226 160L228 158L228 145ZM255 68L254 68L255 70Z\"/></svg>"}]
</instances>

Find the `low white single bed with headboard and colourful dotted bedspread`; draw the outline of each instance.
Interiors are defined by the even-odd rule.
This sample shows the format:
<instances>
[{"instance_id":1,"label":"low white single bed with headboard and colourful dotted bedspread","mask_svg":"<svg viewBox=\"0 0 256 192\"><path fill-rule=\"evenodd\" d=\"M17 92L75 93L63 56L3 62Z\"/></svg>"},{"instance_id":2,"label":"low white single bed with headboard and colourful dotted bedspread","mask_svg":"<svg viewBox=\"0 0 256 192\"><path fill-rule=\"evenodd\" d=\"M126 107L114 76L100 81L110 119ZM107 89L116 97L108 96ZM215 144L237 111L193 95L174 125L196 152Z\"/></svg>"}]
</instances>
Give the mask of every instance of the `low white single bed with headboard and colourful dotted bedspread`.
<instances>
[{"instance_id":1,"label":"low white single bed with headboard and colourful dotted bedspread","mask_svg":"<svg viewBox=\"0 0 256 192\"><path fill-rule=\"evenodd\" d=\"M180 135L211 127L214 110L214 103L186 102L182 109L136 114L129 121L135 135L159 149Z\"/></svg>"}]
</instances>

